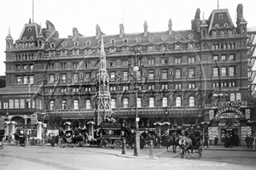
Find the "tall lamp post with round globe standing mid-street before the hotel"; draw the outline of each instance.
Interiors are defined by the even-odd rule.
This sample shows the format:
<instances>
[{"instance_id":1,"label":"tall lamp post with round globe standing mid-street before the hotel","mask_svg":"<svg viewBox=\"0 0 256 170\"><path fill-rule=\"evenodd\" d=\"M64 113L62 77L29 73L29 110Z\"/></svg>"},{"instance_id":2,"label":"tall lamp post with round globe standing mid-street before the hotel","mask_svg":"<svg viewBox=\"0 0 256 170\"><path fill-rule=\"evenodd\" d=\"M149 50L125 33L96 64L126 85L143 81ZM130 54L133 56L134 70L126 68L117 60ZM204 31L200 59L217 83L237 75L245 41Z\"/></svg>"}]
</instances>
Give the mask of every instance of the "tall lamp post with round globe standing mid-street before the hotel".
<instances>
[{"instance_id":1,"label":"tall lamp post with round globe standing mid-street before the hotel","mask_svg":"<svg viewBox=\"0 0 256 170\"><path fill-rule=\"evenodd\" d=\"M137 60L137 53L141 52L139 51L139 49L137 48L137 50L135 51L135 61L134 61L134 65L132 66L132 70L136 73L134 80L135 80L135 111L136 111L136 139L135 139L135 144L134 144L134 156L138 156L138 150L140 149L140 133L138 131L139 127L138 127L138 122L139 122L139 117L137 116L137 71L141 71L142 67L138 64L138 60Z\"/></svg>"}]
</instances>

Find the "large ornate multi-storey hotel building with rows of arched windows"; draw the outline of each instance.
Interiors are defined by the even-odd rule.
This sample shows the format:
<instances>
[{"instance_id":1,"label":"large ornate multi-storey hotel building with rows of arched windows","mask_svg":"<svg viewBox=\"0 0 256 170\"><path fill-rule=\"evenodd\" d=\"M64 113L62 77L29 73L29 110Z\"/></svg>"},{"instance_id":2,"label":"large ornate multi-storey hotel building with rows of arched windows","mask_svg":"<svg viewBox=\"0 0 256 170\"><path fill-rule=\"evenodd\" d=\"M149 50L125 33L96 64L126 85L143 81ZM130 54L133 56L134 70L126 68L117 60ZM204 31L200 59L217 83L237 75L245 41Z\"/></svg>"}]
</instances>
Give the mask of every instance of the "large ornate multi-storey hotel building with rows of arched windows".
<instances>
[{"instance_id":1,"label":"large ornate multi-storey hotel building with rows of arched windows","mask_svg":"<svg viewBox=\"0 0 256 170\"><path fill-rule=\"evenodd\" d=\"M137 100L141 130L169 122L170 127L203 127L210 139L224 133L237 133L241 139L255 135L249 34L241 4L236 11L236 24L228 9L213 10L207 20L197 9L188 30L172 30L169 20L165 31L148 31L145 21L139 33L126 33L120 24L119 34L104 35L97 25L91 37L73 28L72 36L61 38L49 20L46 28L29 22L16 41L10 32L6 37L0 113L6 119L8 112L9 121L18 126L33 124L32 114L44 112L48 128L67 121L87 127L96 117L103 39L114 118L133 128ZM136 58L140 71L135 75L131 68Z\"/></svg>"}]
</instances>

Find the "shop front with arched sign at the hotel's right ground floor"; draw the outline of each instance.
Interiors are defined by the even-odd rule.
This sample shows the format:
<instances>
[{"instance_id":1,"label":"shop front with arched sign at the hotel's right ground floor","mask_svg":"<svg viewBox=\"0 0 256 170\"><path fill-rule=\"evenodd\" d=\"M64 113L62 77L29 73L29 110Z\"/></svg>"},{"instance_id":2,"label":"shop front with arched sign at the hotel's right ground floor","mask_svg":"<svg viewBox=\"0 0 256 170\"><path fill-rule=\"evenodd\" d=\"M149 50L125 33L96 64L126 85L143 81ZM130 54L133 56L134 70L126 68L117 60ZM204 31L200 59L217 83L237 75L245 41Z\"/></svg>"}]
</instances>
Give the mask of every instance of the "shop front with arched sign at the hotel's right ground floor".
<instances>
[{"instance_id":1,"label":"shop front with arched sign at the hotel's right ground floor","mask_svg":"<svg viewBox=\"0 0 256 170\"><path fill-rule=\"evenodd\" d=\"M244 103L242 103L244 104ZM221 102L211 107L212 110L207 111L209 125L207 127L208 138L214 143L214 139L218 136L218 143L224 144L227 136L230 137L234 146L244 145L247 134L252 134L252 125L248 123L250 120L251 110L245 105L234 105L229 102L224 105ZM218 107L216 107L218 106Z\"/></svg>"}]
</instances>

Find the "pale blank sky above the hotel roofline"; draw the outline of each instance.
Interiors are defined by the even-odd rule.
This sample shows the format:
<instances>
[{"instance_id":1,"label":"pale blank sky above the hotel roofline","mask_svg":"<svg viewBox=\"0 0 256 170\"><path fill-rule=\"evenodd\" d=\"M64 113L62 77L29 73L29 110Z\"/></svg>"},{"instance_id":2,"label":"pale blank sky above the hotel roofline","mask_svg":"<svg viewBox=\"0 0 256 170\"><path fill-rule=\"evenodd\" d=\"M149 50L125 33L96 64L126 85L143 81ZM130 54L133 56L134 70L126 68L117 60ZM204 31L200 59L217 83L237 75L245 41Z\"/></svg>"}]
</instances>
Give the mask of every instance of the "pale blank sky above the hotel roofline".
<instances>
[{"instance_id":1,"label":"pale blank sky above the hotel roofline","mask_svg":"<svg viewBox=\"0 0 256 170\"><path fill-rule=\"evenodd\" d=\"M119 34L123 23L126 33L143 32L147 20L148 31L167 31L172 19L172 30L191 29L196 8L205 19L213 9L228 8L236 23L237 4L243 5L247 27L256 26L255 0L34 0L34 22L44 28L49 20L59 31L60 37L72 35L76 27L84 36L96 35L96 24L107 34ZM0 0L0 76L5 75L5 37L9 27L14 40L20 37L23 26L32 19L32 0Z\"/></svg>"}]
</instances>

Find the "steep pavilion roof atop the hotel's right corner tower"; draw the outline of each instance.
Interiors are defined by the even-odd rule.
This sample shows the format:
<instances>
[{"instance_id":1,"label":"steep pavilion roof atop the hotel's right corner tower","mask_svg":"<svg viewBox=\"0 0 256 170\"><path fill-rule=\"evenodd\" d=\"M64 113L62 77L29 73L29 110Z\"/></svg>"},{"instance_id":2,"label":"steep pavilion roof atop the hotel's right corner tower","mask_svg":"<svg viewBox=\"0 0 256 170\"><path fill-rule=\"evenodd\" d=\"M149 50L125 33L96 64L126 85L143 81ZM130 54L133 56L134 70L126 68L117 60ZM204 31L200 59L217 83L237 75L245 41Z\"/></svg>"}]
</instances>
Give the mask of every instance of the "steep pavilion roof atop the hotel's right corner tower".
<instances>
[{"instance_id":1,"label":"steep pavilion roof atop the hotel's right corner tower","mask_svg":"<svg viewBox=\"0 0 256 170\"><path fill-rule=\"evenodd\" d=\"M212 27L218 25L224 26L224 24L228 24L228 26L234 26L230 13L228 9L215 9L212 11L212 14L210 15L209 18L210 24L209 24L209 30L210 32L212 30Z\"/></svg>"}]
</instances>

